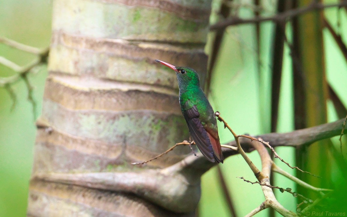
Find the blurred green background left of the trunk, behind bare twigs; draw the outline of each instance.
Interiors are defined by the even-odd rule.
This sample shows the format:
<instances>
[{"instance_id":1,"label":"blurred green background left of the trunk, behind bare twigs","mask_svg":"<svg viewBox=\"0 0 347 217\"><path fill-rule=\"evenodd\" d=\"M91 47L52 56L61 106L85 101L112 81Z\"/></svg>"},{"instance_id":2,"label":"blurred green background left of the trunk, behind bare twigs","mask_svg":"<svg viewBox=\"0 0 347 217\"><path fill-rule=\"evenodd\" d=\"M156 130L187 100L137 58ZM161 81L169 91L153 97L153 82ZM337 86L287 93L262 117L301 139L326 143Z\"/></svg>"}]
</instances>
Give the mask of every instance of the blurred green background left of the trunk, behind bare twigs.
<instances>
[{"instance_id":1,"label":"blurred green background left of the trunk, behind bare twigs","mask_svg":"<svg viewBox=\"0 0 347 217\"><path fill-rule=\"evenodd\" d=\"M37 48L49 46L52 4L47 0L0 1L0 36ZM34 55L9 48L0 43L0 56L23 66ZM15 72L0 64L0 76ZM41 112L46 67L38 67L29 74L37 102L36 116ZM29 178L33 161L36 127L32 105L27 100L25 83L11 85L17 101L11 111L12 99L0 87L0 216L26 216Z\"/></svg>"}]
</instances>

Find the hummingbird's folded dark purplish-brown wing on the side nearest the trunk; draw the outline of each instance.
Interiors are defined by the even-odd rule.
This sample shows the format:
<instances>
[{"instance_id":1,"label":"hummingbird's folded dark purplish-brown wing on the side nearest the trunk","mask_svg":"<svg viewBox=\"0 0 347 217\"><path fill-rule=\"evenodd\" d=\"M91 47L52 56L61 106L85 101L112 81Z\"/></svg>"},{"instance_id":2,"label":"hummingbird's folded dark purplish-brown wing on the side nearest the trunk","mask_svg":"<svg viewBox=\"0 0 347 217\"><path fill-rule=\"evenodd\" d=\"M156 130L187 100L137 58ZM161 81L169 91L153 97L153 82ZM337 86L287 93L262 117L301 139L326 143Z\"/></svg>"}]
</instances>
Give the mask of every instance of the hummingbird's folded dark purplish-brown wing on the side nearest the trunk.
<instances>
[{"instance_id":1,"label":"hummingbird's folded dark purplish-brown wing on the side nearest the trunk","mask_svg":"<svg viewBox=\"0 0 347 217\"><path fill-rule=\"evenodd\" d=\"M186 119L189 132L193 136L193 139L202 155L205 156L209 161L215 162L212 144L210 142L210 135L201 124L199 119L200 113L196 106L187 100L182 106L182 112L184 118Z\"/></svg>"}]
</instances>

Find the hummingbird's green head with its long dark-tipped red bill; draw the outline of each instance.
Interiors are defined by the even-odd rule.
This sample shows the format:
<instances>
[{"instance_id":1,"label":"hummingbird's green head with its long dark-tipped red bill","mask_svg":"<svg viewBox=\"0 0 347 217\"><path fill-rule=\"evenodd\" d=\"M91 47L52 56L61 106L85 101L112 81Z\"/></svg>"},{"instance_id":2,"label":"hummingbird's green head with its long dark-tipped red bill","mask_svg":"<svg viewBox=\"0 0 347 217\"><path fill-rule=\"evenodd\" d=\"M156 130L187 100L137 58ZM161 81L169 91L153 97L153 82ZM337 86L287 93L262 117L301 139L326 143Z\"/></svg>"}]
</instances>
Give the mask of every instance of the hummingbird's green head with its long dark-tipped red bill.
<instances>
[{"instance_id":1,"label":"hummingbird's green head with its long dark-tipped red bill","mask_svg":"<svg viewBox=\"0 0 347 217\"><path fill-rule=\"evenodd\" d=\"M195 72L194 69L188 68L188 67L181 67L181 66L174 66L167 62L161 61L161 60L155 60L157 62L160 62L161 64L175 70L177 80L178 80L178 86L179 88L184 88L187 86L200 86L200 78L199 75Z\"/></svg>"}]
</instances>

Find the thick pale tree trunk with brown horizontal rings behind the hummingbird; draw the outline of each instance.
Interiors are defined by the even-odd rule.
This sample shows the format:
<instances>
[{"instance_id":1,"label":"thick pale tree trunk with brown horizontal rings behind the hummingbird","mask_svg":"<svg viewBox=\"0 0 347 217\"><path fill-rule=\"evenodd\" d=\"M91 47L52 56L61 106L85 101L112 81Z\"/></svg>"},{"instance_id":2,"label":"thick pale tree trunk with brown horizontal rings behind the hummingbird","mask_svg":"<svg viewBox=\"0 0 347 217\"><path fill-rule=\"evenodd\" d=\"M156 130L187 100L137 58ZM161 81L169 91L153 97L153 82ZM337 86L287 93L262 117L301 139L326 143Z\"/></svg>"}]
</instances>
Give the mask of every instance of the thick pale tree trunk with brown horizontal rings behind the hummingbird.
<instances>
[{"instance_id":1,"label":"thick pale tree trunk with brown horizontal rings behind the hummingbird","mask_svg":"<svg viewBox=\"0 0 347 217\"><path fill-rule=\"evenodd\" d=\"M164 169L188 147L131 163L189 138L176 75L154 59L196 69L203 85L210 10L211 0L53 1L28 216L194 216L200 177Z\"/></svg>"}]
</instances>

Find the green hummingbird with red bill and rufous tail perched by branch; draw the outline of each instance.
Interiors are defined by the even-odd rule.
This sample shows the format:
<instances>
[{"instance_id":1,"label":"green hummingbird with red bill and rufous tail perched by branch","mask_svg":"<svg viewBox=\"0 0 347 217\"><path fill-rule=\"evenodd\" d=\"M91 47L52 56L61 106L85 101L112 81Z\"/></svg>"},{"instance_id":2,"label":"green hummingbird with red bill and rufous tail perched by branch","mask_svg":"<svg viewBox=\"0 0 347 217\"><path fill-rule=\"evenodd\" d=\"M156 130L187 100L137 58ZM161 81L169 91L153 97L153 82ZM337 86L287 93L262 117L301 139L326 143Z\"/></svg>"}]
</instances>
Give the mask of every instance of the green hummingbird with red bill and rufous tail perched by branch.
<instances>
[{"instance_id":1,"label":"green hummingbird with red bill and rufous tail perched by branch","mask_svg":"<svg viewBox=\"0 0 347 217\"><path fill-rule=\"evenodd\" d=\"M157 59L155 61L176 72L179 104L198 149L209 161L223 163L217 120L209 100L200 87L199 75L192 68L176 67Z\"/></svg>"}]
</instances>

